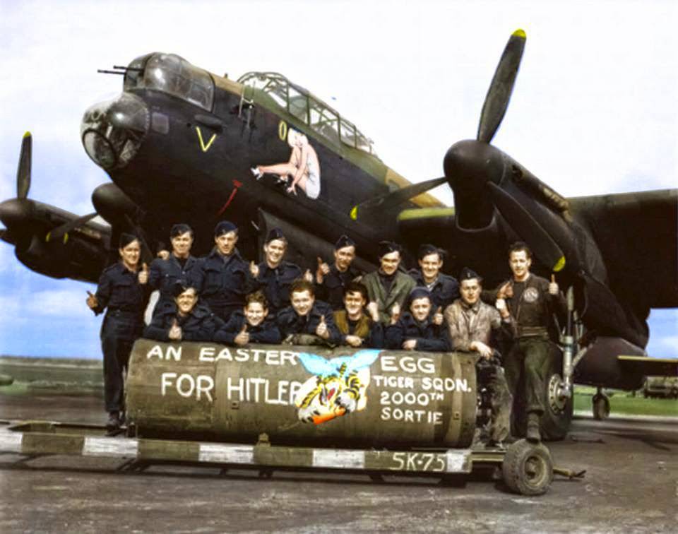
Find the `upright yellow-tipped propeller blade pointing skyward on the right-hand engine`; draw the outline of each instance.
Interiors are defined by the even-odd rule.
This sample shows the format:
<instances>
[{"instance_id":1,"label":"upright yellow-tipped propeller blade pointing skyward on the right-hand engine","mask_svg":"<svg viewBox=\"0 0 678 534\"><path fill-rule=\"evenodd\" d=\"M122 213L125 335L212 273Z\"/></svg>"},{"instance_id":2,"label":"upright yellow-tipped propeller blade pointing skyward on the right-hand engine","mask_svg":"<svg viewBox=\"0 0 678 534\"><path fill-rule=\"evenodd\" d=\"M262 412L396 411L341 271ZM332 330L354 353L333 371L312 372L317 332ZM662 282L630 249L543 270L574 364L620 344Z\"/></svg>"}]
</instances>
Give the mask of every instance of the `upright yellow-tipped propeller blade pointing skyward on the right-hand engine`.
<instances>
[{"instance_id":1,"label":"upright yellow-tipped propeller blade pointing skyward on the right-hand engine","mask_svg":"<svg viewBox=\"0 0 678 534\"><path fill-rule=\"evenodd\" d=\"M494 137L496 129L504 119L506 108L509 107L509 99L513 91L513 83L516 82L518 66L521 64L523 49L525 48L525 32L516 30L509 37L504 53L501 54L499 65L494 71L494 78L489 84L485 102L480 113L477 140L489 143Z\"/></svg>"}]
</instances>

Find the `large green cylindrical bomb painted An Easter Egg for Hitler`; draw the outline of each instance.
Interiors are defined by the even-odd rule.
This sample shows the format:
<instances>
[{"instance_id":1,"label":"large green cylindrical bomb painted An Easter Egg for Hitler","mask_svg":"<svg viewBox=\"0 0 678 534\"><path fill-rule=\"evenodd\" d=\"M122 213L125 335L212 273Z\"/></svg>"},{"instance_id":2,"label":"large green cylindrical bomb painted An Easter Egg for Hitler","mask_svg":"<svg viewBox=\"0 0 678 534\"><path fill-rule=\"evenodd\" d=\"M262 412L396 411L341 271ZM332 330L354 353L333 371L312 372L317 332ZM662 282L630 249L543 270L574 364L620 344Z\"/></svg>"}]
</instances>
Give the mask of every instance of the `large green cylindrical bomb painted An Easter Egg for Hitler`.
<instances>
[{"instance_id":1,"label":"large green cylindrical bomb painted An Easter Egg for Hitler","mask_svg":"<svg viewBox=\"0 0 678 534\"><path fill-rule=\"evenodd\" d=\"M472 441L475 389L463 353L141 339L126 409L141 437L451 448Z\"/></svg>"}]
</instances>

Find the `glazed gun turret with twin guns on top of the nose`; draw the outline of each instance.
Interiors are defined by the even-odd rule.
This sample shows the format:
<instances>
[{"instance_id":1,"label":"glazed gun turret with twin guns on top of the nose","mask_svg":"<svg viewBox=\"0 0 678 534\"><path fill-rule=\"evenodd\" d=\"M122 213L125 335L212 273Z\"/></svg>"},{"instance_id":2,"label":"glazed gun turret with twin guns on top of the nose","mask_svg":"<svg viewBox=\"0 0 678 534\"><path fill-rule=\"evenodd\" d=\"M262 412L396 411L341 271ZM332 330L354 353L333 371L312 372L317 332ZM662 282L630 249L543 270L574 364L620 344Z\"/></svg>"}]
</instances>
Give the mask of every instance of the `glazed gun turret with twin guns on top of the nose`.
<instances>
[{"instance_id":1,"label":"glazed gun turret with twin guns on top of the nose","mask_svg":"<svg viewBox=\"0 0 678 534\"><path fill-rule=\"evenodd\" d=\"M125 73L124 90L151 89L212 110L214 81L207 71L177 54L155 52L134 59Z\"/></svg>"}]
</instances>

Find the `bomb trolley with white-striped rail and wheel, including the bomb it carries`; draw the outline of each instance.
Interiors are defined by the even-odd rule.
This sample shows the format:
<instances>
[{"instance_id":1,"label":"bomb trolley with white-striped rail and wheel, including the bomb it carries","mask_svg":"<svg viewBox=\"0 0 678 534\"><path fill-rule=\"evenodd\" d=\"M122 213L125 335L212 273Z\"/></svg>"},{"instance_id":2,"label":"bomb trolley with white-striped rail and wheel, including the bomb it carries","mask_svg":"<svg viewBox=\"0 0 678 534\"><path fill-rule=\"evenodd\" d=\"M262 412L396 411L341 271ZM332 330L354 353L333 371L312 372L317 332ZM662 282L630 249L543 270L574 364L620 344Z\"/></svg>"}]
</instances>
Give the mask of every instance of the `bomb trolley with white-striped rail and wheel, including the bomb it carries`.
<instances>
[{"instance_id":1,"label":"bomb trolley with white-striped rail and wheel, including the bomb it carries","mask_svg":"<svg viewBox=\"0 0 678 534\"><path fill-rule=\"evenodd\" d=\"M0 451L121 458L132 468L188 462L375 479L501 467L512 491L547 491L554 468L544 445L470 447L477 414L472 356L318 349L139 340L125 435L93 425L16 422L0 427Z\"/></svg>"}]
</instances>

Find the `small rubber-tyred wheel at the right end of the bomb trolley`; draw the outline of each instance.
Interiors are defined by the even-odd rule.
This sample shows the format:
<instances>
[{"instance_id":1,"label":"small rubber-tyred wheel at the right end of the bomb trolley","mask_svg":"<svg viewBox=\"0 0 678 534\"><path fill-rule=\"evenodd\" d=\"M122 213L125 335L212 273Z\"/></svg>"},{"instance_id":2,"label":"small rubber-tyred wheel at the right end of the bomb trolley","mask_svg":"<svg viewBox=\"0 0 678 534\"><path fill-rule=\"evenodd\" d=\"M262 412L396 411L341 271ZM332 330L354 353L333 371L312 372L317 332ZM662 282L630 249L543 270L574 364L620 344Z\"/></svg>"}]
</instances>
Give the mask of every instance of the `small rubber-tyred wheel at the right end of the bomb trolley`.
<instances>
[{"instance_id":1,"label":"small rubber-tyred wheel at the right end of the bomb trolley","mask_svg":"<svg viewBox=\"0 0 678 534\"><path fill-rule=\"evenodd\" d=\"M504 482L512 492L522 495L542 495L553 480L553 461L543 444L531 444L519 439L506 449L501 463Z\"/></svg>"}]
</instances>

